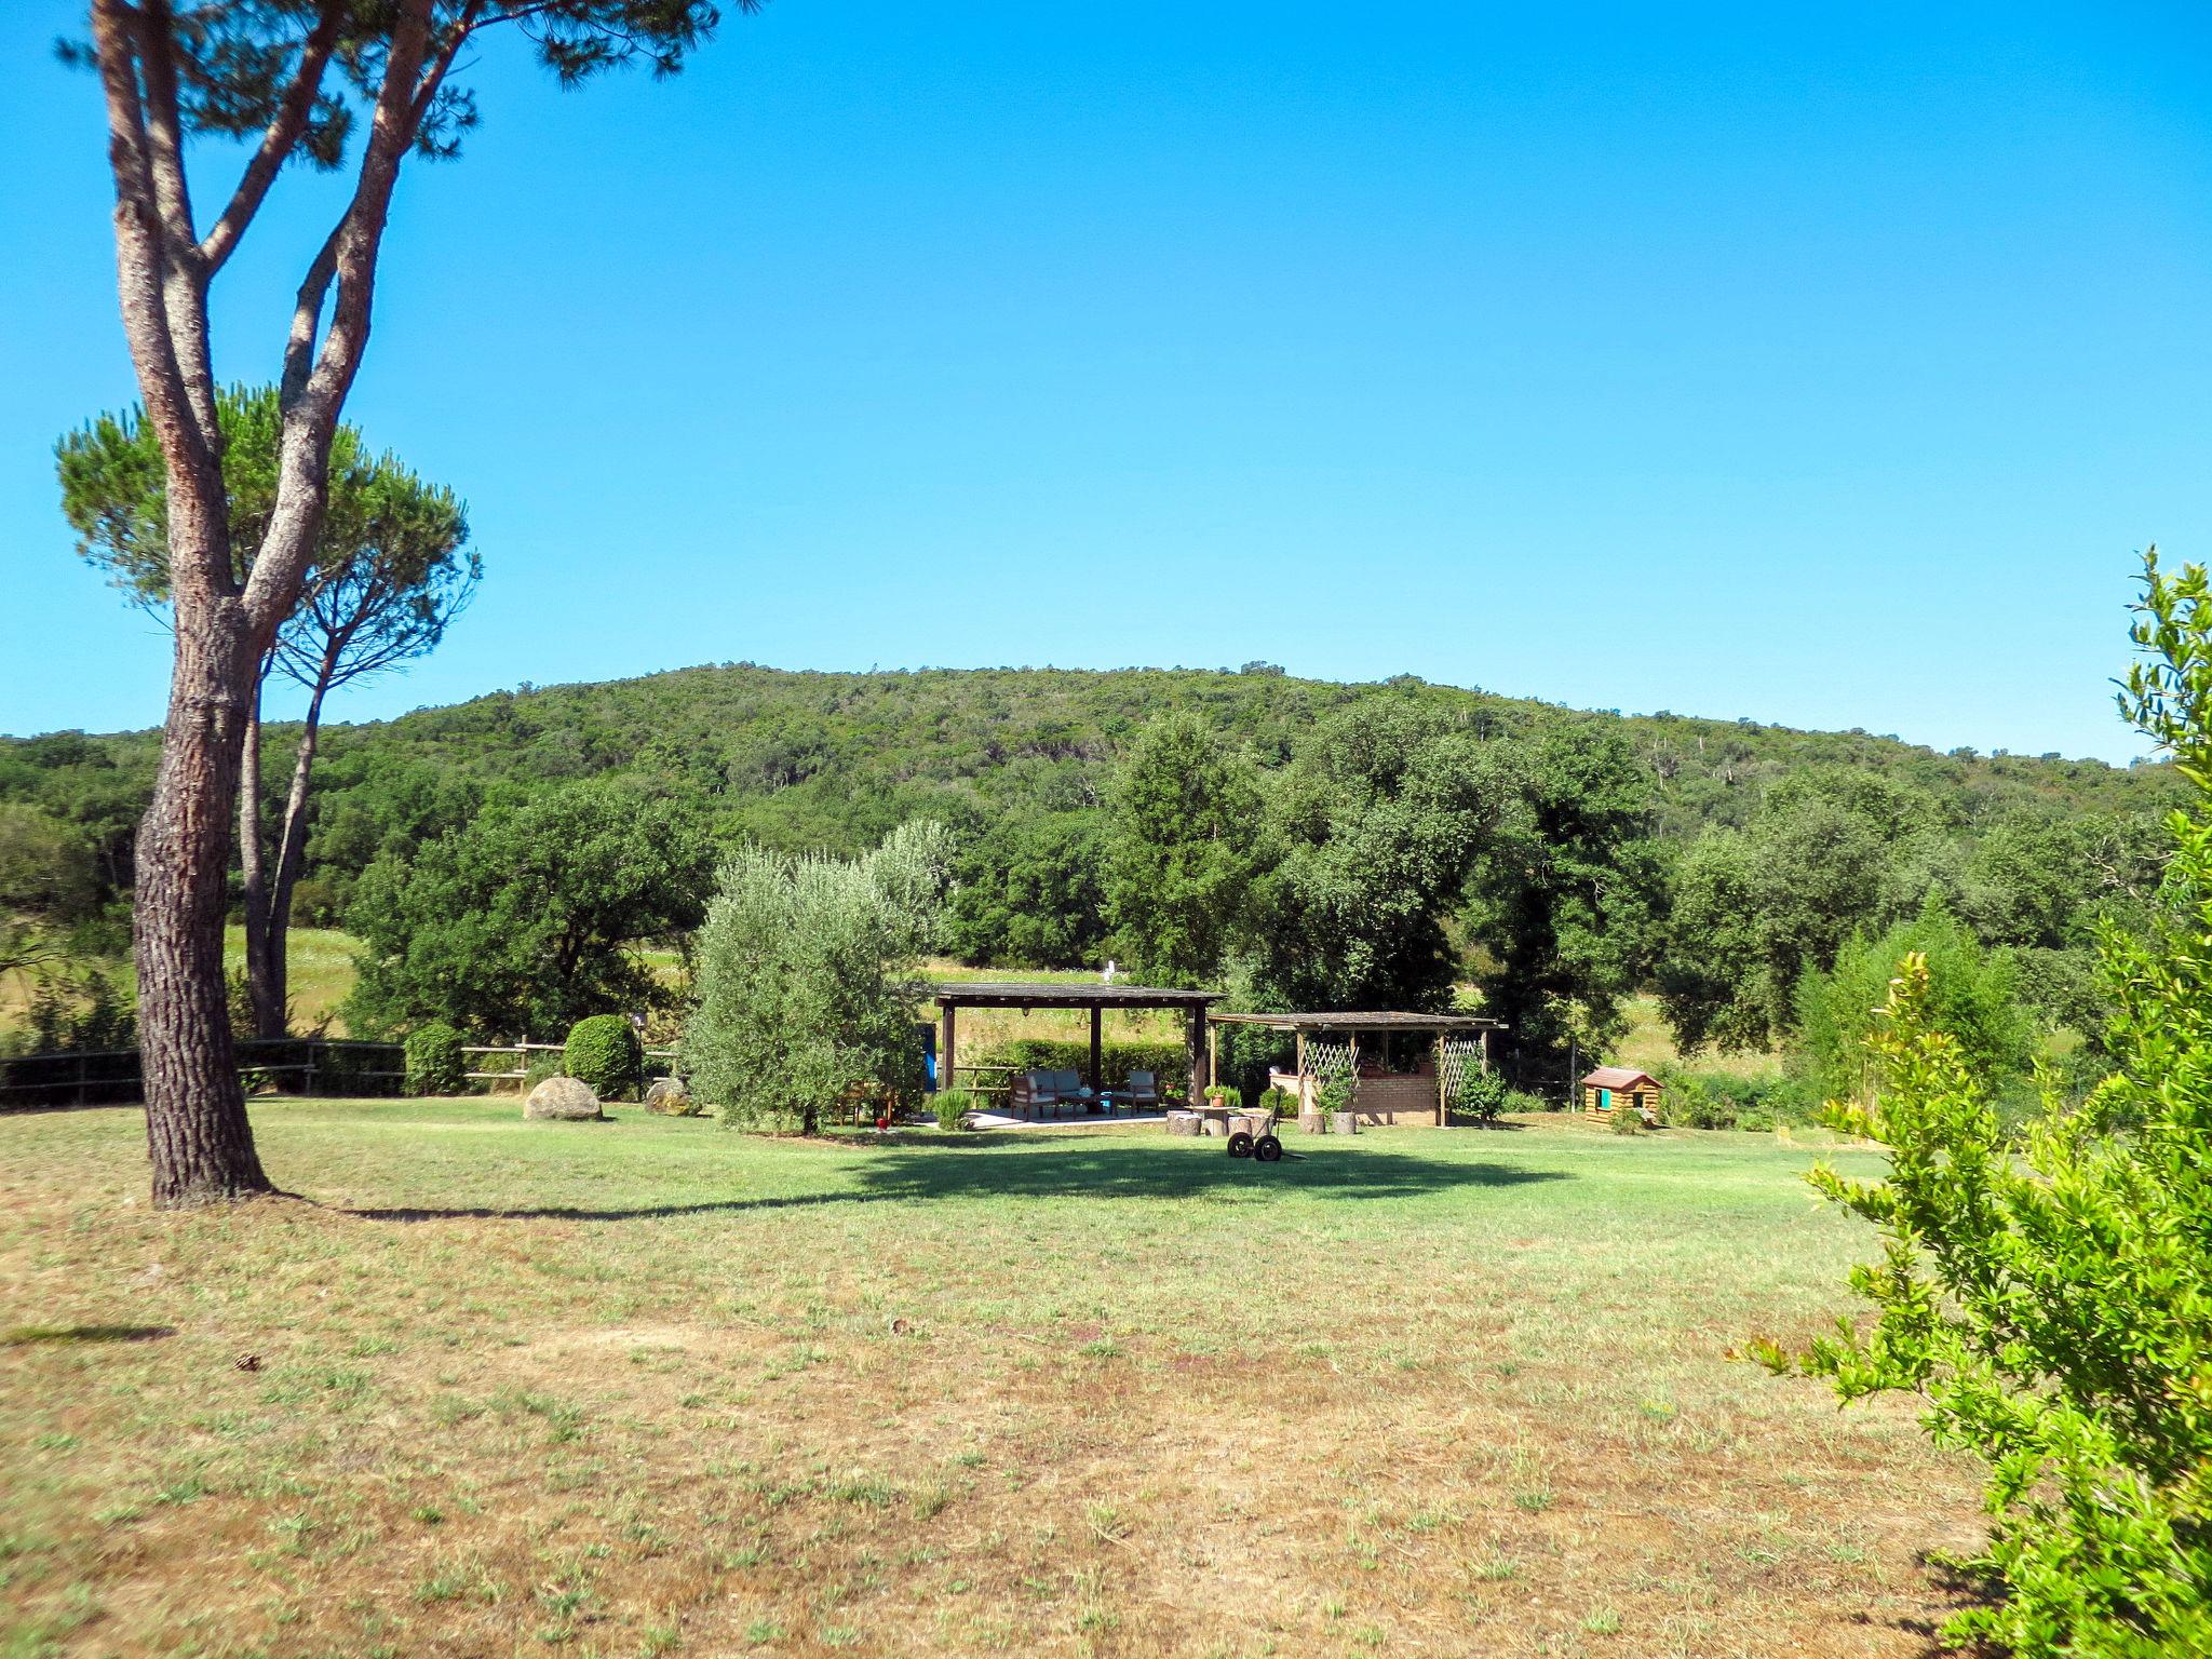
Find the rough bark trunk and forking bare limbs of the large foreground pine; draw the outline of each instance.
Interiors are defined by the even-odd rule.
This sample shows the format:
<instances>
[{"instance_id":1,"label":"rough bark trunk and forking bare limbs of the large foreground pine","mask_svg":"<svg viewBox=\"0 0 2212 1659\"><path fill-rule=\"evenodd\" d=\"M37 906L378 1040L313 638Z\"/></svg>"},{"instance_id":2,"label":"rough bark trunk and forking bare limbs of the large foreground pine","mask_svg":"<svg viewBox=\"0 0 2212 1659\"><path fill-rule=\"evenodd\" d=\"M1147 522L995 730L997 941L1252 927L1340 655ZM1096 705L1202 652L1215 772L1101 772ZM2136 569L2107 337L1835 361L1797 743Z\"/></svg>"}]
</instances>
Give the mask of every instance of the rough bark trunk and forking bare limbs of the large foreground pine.
<instances>
[{"instance_id":1,"label":"rough bark trunk and forking bare limbs of the large foreground pine","mask_svg":"<svg viewBox=\"0 0 2212 1659\"><path fill-rule=\"evenodd\" d=\"M208 283L305 131L345 20L325 7L237 192L195 237L168 0L95 0L93 51L115 175L115 274L146 418L168 462L175 666L161 765L139 827L133 920L153 1199L270 1192L230 1046L223 898L259 666L299 593L327 493L330 438L369 334L376 252L400 157L465 31L427 62L431 0L403 0L361 177L294 305L276 511L241 588L230 560ZM316 343L323 307L330 327Z\"/></svg>"}]
</instances>

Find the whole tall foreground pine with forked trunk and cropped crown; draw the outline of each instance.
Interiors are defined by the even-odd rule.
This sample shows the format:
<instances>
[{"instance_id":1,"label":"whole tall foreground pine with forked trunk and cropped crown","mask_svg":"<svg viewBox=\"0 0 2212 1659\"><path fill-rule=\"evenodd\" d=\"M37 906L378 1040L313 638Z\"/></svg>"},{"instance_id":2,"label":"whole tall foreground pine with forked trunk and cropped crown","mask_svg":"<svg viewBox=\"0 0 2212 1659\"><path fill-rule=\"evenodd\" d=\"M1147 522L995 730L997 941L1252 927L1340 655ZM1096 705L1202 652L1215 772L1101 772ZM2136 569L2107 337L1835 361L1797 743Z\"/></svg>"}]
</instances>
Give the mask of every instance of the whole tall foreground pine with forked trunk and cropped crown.
<instances>
[{"instance_id":1,"label":"whole tall foreground pine with forked trunk and cropped crown","mask_svg":"<svg viewBox=\"0 0 2212 1659\"><path fill-rule=\"evenodd\" d=\"M529 42L573 86L630 62L672 73L714 24L708 0L91 0L91 38L62 46L100 75L124 341L168 480L175 666L135 889L157 1206L270 1190L223 998L230 816L259 666L321 538L330 447L369 343L400 168L411 155L458 153L476 100L453 66L502 35ZM283 336L276 489L241 566L208 296L279 173L292 161L347 166L356 126L345 206L303 250L290 314L272 319ZM192 175L208 177L186 166L195 137L246 144L212 215L192 199Z\"/></svg>"}]
</instances>

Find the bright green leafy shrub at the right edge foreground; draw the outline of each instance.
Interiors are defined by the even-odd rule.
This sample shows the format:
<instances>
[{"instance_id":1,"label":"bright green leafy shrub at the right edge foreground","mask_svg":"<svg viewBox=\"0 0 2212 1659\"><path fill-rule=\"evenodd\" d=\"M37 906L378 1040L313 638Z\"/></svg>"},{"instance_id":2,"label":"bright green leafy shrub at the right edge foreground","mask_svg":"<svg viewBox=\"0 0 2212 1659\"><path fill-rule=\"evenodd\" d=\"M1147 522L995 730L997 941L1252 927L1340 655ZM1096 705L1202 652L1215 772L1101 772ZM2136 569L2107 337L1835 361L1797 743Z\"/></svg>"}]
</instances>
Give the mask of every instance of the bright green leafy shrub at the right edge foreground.
<instances>
[{"instance_id":1,"label":"bright green leafy shrub at the right edge foreground","mask_svg":"<svg viewBox=\"0 0 2212 1659\"><path fill-rule=\"evenodd\" d=\"M2046 1088L2015 1144L1909 956L1876 1097L1829 1108L1889 1179L1814 1172L1887 1239L1851 1274L1878 1318L1756 1349L1847 1400L1920 1394L1929 1433L1984 1460L2002 1595L1947 1635L2020 1659L2212 1652L2212 586L2146 566L2121 706L2194 803L2148 936L2099 940L2119 1071L2077 1110Z\"/></svg>"}]
</instances>

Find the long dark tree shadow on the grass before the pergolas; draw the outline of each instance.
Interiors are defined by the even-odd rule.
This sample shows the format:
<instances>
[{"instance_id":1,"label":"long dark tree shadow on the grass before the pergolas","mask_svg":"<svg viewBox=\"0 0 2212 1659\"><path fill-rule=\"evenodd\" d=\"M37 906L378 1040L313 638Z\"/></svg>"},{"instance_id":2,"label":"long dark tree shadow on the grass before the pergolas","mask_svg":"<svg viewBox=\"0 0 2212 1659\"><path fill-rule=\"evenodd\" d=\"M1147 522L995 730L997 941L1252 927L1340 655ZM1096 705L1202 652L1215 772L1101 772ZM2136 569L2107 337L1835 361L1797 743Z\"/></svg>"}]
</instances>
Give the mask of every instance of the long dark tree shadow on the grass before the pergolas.
<instances>
[{"instance_id":1,"label":"long dark tree shadow on the grass before the pergolas","mask_svg":"<svg viewBox=\"0 0 2212 1659\"><path fill-rule=\"evenodd\" d=\"M958 1148L958 1150L956 1150ZM885 1148L832 1192L732 1197L701 1203L513 1206L349 1210L365 1221L630 1221L684 1214L750 1214L834 1203L927 1203L933 1199L1203 1199L1305 1192L1332 1199L1407 1199L1460 1188L1566 1181L1564 1170L1458 1164L1380 1148L1316 1150L1283 1164L1208 1155L1190 1141L1117 1146L942 1141Z\"/></svg>"}]
</instances>

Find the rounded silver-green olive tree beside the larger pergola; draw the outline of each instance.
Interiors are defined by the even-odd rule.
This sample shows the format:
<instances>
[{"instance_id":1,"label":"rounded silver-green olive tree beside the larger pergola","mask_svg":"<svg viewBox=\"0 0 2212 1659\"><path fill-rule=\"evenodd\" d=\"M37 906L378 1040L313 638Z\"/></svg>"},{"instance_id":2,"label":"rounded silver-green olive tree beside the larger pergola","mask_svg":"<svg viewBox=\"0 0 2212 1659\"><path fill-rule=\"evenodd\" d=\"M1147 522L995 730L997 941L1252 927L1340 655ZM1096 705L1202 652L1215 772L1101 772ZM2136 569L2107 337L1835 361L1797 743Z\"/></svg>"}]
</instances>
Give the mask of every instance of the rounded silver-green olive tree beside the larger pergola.
<instances>
[{"instance_id":1,"label":"rounded silver-green olive tree beside the larger pergola","mask_svg":"<svg viewBox=\"0 0 2212 1659\"><path fill-rule=\"evenodd\" d=\"M812 1135L841 1099L909 1095L920 960L942 927L951 836L907 823L865 858L745 847L697 940L684 1073L723 1119Z\"/></svg>"}]
</instances>

